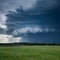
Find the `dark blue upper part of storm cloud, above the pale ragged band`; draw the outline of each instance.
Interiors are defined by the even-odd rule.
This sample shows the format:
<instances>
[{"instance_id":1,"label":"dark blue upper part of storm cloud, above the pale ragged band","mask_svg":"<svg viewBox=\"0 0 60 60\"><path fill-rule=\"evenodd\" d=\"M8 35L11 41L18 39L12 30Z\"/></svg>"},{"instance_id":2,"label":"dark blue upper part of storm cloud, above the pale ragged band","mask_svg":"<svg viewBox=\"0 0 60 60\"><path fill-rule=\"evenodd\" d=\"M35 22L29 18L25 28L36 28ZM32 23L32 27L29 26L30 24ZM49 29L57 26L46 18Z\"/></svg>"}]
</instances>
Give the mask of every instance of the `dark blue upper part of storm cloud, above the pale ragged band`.
<instances>
[{"instance_id":1,"label":"dark blue upper part of storm cloud, above the pale ragged band","mask_svg":"<svg viewBox=\"0 0 60 60\"><path fill-rule=\"evenodd\" d=\"M38 0L36 4L28 10L24 11L21 7L20 9L16 9L17 12L10 12L7 14L9 19L8 23L14 24L20 21L20 24L29 24L31 22L56 25L59 23L60 19L59 3L59 0Z\"/></svg>"}]
</instances>

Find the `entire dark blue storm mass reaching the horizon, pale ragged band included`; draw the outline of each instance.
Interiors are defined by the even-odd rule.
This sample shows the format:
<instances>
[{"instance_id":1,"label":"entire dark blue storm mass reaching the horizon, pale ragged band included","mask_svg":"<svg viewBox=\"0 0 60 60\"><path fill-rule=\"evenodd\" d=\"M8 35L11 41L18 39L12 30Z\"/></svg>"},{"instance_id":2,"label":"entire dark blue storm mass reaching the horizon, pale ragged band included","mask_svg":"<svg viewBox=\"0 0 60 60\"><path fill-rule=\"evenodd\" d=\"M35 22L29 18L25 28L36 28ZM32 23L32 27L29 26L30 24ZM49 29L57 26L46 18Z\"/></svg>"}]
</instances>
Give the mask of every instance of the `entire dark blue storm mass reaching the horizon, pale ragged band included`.
<instances>
[{"instance_id":1,"label":"entire dark blue storm mass reaching the horizon, pale ragged band included","mask_svg":"<svg viewBox=\"0 0 60 60\"><path fill-rule=\"evenodd\" d=\"M60 1L56 6L52 3L53 7L45 2L38 1L27 10L20 7L16 12L9 11L7 34L20 36L23 42L60 43Z\"/></svg>"}]
</instances>

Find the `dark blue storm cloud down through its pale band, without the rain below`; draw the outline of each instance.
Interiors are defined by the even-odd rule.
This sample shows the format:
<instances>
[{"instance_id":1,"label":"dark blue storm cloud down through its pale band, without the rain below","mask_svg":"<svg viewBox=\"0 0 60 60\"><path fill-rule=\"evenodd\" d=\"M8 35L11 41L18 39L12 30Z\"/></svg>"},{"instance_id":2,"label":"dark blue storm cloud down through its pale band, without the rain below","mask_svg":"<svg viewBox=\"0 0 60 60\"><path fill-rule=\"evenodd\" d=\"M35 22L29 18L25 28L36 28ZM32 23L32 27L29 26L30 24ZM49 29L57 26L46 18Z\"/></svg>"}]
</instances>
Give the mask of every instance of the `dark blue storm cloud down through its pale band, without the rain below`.
<instances>
[{"instance_id":1,"label":"dark blue storm cloud down through its pale band, without the rain below","mask_svg":"<svg viewBox=\"0 0 60 60\"><path fill-rule=\"evenodd\" d=\"M42 3L41 3L42 2ZM44 3L44 4L43 4ZM57 9L58 8L58 9ZM54 31L55 27L60 25L59 1L57 0L38 0L33 8L24 10L23 6L16 9L16 12L10 11L6 17L8 33L18 30L19 33L27 32L49 32ZM46 25L45 28L30 27L28 25ZM26 25L26 26L25 26ZM49 28L47 26L53 28ZM32 25L33 26L33 25ZM57 30L57 29L56 29ZM16 33L17 34L17 33Z\"/></svg>"}]
</instances>

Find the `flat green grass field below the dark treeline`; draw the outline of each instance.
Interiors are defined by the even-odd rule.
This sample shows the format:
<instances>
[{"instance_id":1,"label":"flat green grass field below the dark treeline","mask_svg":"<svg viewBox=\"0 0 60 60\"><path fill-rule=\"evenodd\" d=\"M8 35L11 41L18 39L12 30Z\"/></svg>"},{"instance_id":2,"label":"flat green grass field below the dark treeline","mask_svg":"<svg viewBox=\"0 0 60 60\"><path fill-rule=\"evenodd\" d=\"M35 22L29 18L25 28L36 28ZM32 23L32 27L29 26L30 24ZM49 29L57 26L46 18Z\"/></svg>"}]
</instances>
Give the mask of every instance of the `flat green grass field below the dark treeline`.
<instances>
[{"instance_id":1,"label":"flat green grass field below the dark treeline","mask_svg":"<svg viewBox=\"0 0 60 60\"><path fill-rule=\"evenodd\" d=\"M0 60L60 60L60 46L0 46Z\"/></svg>"}]
</instances>

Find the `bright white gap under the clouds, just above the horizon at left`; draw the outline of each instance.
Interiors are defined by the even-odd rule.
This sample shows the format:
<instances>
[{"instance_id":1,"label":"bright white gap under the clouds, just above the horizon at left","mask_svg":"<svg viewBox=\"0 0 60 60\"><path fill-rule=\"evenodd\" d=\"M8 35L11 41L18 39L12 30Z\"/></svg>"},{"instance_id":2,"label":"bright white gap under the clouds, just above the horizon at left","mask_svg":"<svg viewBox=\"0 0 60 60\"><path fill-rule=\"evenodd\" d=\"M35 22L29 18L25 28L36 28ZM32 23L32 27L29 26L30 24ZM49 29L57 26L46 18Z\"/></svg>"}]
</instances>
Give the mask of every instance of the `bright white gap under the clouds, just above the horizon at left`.
<instances>
[{"instance_id":1,"label":"bright white gap under the clouds, just above the horizon at left","mask_svg":"<svg viewBox=\"0 0 60 60\"><path fill-rule=\"evenodd\" d=\"M0 43L19 43L22 37L13 37L12 35L0 34Z\"/></svg>"}]
</instances>

